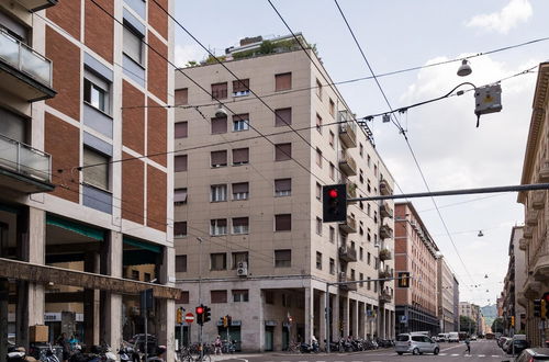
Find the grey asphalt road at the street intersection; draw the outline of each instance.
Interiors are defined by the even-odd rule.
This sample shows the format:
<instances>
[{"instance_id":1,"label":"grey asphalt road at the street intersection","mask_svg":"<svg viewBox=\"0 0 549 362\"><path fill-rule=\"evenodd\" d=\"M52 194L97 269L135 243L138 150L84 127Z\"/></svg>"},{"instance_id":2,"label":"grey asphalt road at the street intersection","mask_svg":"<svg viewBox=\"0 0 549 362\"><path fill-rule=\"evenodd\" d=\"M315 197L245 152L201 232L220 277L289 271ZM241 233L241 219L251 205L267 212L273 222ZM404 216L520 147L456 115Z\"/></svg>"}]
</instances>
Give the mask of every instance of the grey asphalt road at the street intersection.
<instances>
[{"instance_id":1,"label":"grey asphalt road at the street intersection","mask_svg":"<svg viewBox=\"0 0 549 362\"><path fill-rule=\"evenodd\" d=\"M440 343L438 355L423 354L399 355L394 349L380 349L374 351L352 353L317 353L317 354L287 354L287 353L262 353L215 357L212 361L229 362L385 362L385 361L437 361L437 362L501 362L511 360L511 357L497 347L495 340L482 340L471 342L471 354L466 354L464 343Z\"/></svg>"}]
</instances>

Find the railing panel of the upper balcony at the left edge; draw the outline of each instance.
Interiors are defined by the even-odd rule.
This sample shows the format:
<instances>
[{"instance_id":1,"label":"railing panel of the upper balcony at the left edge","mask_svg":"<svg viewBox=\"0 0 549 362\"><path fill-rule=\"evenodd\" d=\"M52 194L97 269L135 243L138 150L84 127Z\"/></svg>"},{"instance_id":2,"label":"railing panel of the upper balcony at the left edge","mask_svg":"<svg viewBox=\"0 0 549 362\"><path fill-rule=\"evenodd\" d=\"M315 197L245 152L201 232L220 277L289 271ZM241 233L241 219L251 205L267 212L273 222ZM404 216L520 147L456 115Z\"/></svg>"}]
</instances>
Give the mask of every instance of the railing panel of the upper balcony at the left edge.
<instances>
[{"instance_id":1,"label":"railing panel of the upper balcony at the left edge","mask_svg":"<svg viewBox=\"0 0 549 362\"><path fill-rule=\"evenodd\" d=\"M40 55L1 27L0 59L45 86L52 87L52 60Z\"/></svg>"}]
</instances>

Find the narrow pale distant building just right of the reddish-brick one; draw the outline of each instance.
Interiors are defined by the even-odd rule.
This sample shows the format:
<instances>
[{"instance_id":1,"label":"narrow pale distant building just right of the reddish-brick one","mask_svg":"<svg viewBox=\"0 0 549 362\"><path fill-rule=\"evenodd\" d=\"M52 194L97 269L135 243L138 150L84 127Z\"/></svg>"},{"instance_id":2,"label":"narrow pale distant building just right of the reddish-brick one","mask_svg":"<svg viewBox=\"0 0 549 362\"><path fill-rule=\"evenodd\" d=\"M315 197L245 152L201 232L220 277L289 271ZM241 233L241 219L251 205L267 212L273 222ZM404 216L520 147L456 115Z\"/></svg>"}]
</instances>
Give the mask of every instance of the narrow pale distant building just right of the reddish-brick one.
<instances>
[{"instance_id":1,"label":"narrow pale distant building just right of the reddish-brick one","mask_svg":"<svg viewBox=\"0 0 549 362\"><path fill-rule=\"evenodd\" d=\"M444 257L437 259L437 305L440 332L457 331L453 315L456 276Z\"/></svg>"}]
</instances>

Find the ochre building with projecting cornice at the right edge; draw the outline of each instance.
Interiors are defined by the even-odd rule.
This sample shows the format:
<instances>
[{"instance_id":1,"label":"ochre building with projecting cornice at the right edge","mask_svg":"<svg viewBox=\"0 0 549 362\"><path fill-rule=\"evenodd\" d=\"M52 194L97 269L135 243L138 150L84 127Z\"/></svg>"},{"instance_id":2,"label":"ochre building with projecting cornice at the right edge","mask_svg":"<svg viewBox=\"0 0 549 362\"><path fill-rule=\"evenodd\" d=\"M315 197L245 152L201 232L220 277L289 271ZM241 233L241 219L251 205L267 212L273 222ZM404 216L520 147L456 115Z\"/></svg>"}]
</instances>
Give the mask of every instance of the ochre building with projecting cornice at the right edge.
<instances>
[{"instance_id":1,"label":"ochre building with projecting cornice at the right edge","mask_svg":"<svg viewBox=\"0 0 549 362\"><path fill-rule=\"evenodd\" d=\"M547 128L548 116L548 80L549 63L539 65L538 79L534 93L530 131L526 143L523 163L523 184L549 181L549 139ZM518 202L524 204L525 227L518 248L526 254L527 279L522 285L523 295L527 299L526 335L531 346L541 346L541 332L538 328L539 317L534 316L534 301L549 292L549 240L547 236L547 190L518 193ZM544 331L549 336L549 330Z\"/></svg>"}]
</instances>

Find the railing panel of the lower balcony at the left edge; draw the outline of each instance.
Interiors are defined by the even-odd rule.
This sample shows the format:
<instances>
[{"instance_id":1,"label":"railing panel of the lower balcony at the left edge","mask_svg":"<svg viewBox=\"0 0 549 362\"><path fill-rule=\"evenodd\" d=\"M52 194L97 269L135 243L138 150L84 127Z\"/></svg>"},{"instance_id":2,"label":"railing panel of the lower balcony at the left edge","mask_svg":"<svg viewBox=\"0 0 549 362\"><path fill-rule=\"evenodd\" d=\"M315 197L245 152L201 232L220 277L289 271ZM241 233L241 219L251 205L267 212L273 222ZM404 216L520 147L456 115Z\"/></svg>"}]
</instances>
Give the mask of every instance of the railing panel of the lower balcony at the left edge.
<instances>
[{"instance_id":1,"label":"railing panel of the lower balcony at the left edge","mask_svg":"<svg viewBox=\"0 0 549 362\"><path fill-rule=\"evenodd\" d=\"M2 135L0 167L43 182L52 182L52 156Z\"/></svg>"}]
</instances>

